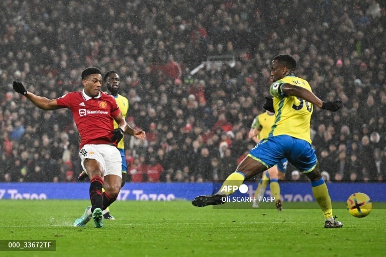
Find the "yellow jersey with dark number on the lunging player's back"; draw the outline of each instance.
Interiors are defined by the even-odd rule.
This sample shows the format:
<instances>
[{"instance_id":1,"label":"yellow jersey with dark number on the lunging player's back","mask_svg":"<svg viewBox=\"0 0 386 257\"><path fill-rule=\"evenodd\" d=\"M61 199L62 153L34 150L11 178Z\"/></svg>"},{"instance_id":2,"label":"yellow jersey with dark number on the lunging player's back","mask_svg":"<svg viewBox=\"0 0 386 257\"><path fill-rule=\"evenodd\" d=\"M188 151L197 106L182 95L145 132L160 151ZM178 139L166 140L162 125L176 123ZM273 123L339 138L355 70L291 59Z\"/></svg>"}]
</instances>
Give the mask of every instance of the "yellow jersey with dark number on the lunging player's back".
<instances>
[{"instance_id":1,"label":"yellow jersey with dark number on the lunging player's back","mask_svg":"<svg viewBox=\"0 0 386 257\"><path fill-rule=\"evenodd\" d=\"M269 135L288 135L303 139L311 144L310 122L313 112L312 103L295 96L286 96L281 87L288 83L312 91L309 83L295 75L288 75L275 81L269 88L273 96L275 122Z\"/></svg>"}]
</instances>

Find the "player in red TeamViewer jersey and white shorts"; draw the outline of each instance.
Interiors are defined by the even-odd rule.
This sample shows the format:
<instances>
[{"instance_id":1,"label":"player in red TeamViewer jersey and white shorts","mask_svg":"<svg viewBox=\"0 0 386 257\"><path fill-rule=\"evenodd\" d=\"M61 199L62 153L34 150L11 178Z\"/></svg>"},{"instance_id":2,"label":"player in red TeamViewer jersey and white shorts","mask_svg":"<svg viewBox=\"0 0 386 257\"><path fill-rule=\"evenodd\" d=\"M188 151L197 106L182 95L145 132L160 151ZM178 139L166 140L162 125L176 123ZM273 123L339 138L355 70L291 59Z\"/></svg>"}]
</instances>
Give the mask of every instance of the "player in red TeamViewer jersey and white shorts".
<instances>
[{"instance_id":1,"label":"player in red TeamViewer jersey and white shorts","mask_svg":"<svg viewBox=\"0 0 386 257\"><path fill-rule=\"evenodd\" d=\"M70 92L57 99L28 92L21 82L14 81L13 88L43 110L68 108L82 139L79 157L81 165L90 178L91 206L75 220L74 226L85 226L92 219L95 227L103 227L102 210L118 197L122 185L121 154L117 143L124 133L144 139L143 130L134 130L122 116L115 99L101 91L101 70L89 67L82 72L82 91ZM113 120L119 127L114 129ZM105 192L102 193L102 187Z\"/></svg>"}]
</instances>

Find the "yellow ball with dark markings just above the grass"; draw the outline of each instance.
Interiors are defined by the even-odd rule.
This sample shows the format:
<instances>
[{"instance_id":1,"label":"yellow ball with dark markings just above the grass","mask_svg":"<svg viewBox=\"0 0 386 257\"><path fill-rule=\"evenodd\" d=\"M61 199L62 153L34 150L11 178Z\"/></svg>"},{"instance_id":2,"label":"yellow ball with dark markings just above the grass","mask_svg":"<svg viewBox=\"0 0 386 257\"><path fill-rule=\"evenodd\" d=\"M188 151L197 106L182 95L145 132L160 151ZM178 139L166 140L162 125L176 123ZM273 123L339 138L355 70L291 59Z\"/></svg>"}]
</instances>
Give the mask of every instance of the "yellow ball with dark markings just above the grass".
<instances>
[{"instance_id":1,"label":"yellow ball with dark markings just above the grass","mask_svg":"<svg viewBox=\"0 0 386 257\"><path fill-rule=\"evenodd\" d=\"M355 193L347 199L347 210L357 218L366 217L372 209L370 197L364 193Z\"/></svg>"}]
</instances>

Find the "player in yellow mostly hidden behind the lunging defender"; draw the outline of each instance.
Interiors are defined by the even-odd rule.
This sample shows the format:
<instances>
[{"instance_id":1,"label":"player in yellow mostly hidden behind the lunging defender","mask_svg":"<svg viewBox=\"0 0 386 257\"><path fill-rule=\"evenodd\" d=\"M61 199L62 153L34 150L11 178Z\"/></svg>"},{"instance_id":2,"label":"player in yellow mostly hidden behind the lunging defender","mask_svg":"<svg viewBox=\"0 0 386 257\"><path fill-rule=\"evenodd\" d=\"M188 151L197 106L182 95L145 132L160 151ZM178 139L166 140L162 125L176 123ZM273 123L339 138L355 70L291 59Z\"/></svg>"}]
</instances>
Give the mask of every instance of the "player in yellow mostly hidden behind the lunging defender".
<instances>
[{"instance_id":1,"label":"player in yellow mostly hidden behind the lunging defender","mask_svg":"<svg viewBox=\"0 0 386 257\"><path fill-rule=\"evenodd\" d=\"M266 111L257 115L252 122L251 129L249 131L248 137L252 139L256 144L261 140L268 137L269 132L271 131L271 126L275 121L275 113ZM275 199L275 205L277 210L281 211L281 200L280 200L280 186L278 183L279 179L284 178L285 171L287 170L287 159L283 159L278 162L273 167L263 172L261 179L258 183L253 201L252 207L259 207L259 199L264 195L265 188L269 183L269 187L272 193L272 196Z\"/></svg>"}]
</instances>

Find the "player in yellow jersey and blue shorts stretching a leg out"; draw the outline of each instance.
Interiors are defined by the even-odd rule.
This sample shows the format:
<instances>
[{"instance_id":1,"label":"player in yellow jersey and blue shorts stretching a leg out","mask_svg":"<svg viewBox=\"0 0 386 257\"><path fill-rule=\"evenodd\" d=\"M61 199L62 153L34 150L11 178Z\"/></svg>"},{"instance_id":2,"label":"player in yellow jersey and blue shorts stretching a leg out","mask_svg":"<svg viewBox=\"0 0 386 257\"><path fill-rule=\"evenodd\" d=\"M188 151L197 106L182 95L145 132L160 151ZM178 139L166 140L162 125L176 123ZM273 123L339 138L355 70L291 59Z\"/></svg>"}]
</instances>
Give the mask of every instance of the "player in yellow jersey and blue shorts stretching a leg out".
<instances>
[{"instance_id":1,"label":"player in yellow jersey and blue shorts stretching a leg out","mask_svg":"<svg viewBox=\"0 0 386 257\"><path fill-rule=\"evenodd\" d=\"M310 180L315 200L321 207L325 228L342 227L332 215L331 198L324 182L315 150L311 145L310 121L313 105L330 111L337 111L341 101L323 102L312 91L308 82L295 76L296 60L288 54L277 55L271 63L273 83L269 92L273 100L264 104L271 105L275 112L275 122L268 138L260 141L248 156L238 165L236 171L228 176L219 192L202 195L193 199L197 207L224 204L226 195L234 193L224 188L238 188L244 180L259 174L278 163L283 158L302 171ZM269 104L270 103L270 104ZM229 186L229 187L228 187Z\"/></svg>"}]
</instances>

